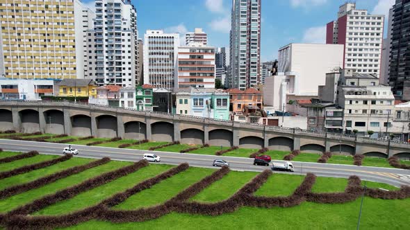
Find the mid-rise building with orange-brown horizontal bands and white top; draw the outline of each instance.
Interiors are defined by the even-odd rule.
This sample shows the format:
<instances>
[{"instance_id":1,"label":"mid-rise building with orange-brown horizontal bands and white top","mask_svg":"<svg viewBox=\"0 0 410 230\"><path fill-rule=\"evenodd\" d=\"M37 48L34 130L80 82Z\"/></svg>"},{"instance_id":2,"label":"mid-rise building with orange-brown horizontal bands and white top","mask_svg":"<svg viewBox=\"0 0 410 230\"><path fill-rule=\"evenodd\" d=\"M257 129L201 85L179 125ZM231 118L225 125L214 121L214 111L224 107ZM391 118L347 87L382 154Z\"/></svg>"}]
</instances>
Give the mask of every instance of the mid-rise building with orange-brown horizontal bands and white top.
<instances>
[{"instance_id":1,"label":"mid-rise building with orange-brown horizontal bands and white top","mask_svg":"<svg viewBox=\"0 0 410 230\"><path fill-rule=\"evenodd\" d=\"M178 88L215 88L215 48L191 42L178 48Z\"/></svg>"}]
</instances>

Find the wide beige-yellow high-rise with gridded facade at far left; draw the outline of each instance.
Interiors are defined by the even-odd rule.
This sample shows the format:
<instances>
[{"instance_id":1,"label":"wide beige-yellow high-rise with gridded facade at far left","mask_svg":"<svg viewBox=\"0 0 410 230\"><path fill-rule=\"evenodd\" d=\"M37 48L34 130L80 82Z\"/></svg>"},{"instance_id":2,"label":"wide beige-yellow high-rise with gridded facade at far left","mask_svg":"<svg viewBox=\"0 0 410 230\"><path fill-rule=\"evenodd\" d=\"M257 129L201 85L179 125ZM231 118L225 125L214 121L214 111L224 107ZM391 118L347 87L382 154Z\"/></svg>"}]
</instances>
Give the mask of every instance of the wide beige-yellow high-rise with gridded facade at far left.
<instances>
[{"instance_id":1,"label":"wide beige-yellow high-rise with gridded facade at far left","mask_svg":"<svg viewBox=\"0 0 410 230\"><path fill-rule=\"evenodd\" d=\"M82 8L78 0L0 1L0 75L83 78Z\"/></svg>"}]
</instances>

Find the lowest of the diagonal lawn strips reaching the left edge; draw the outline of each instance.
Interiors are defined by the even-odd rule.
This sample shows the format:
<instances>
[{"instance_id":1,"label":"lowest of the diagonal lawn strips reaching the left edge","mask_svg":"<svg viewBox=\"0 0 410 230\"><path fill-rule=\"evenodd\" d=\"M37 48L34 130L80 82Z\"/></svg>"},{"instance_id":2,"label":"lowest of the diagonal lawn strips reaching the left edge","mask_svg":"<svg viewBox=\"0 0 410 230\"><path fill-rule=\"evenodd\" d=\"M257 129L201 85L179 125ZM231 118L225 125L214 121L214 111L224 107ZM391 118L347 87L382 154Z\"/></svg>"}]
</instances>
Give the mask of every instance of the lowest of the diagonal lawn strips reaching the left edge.
<instances>
[{"instance_id":1,"label":"lowest of the diagonal lawn strips reaching the left edge","mask_svg":"<svg viewBox=\"0 0 410 230\"><path fill-rule=\"evenodd\" d=\"M6 200L0 200L0 212L13 210L17 208L17 206L32 202L33 200L43 197L44 195L56 193L57 191L63 190L64 188L74 186L75 184L80 184L81 182L84 182L85 180L92 177L97 177L104 172L116 170L127 165L129 165L129 162L110 161L108 163L105 163L104 165L90 168L78 174L59 179L58 181L47 184L46 186L43 186L41 188L35 188L31 191L26 191L25 193L20 193L18 195L14 195L13 197L8 197Z\"/></svg>"}]
</instances>

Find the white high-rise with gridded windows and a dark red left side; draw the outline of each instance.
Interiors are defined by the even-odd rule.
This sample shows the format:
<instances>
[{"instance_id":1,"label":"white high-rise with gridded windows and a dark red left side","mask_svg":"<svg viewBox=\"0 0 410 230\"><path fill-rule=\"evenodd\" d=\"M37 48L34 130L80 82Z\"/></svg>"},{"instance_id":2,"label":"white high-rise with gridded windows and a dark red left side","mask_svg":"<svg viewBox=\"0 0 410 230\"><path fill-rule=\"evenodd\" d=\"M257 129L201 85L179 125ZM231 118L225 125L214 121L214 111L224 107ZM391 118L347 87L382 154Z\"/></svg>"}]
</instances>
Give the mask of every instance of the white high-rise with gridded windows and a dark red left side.
<instances>
[{"instance_id":1,"label":"white high-rise with gridded windows and a dark red left side","mask_svg":"<svg viewBox=\"0 0 410 230\"><path fill-rule=\"evenodd\" d=\"M380 74L384 15L357 10L356 3L339 7L338 20L327 24L326 43L345 46L343 68Z\"/></svg>"}]
</instances>

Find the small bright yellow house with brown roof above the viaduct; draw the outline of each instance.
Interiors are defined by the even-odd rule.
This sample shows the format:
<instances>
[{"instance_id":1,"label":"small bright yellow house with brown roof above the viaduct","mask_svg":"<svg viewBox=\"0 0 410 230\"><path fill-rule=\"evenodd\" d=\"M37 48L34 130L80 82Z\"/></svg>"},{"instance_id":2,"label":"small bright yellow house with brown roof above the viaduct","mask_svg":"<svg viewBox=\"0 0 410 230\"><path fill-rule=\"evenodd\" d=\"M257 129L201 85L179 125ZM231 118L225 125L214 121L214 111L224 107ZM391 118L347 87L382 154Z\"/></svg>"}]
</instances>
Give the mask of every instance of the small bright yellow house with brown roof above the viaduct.
<instances>
[{"instance_id":1,"label":"small bright yellow house with brown roof above the viaduct","mask_svg":"<svg viewBox=\"0 0 410 230\"><path fill-rule=\"evenodd\" d=\"M97 96L97 86L91 79L63 79L56 85L56 96Z\"/></svg>"}]
</instances>

